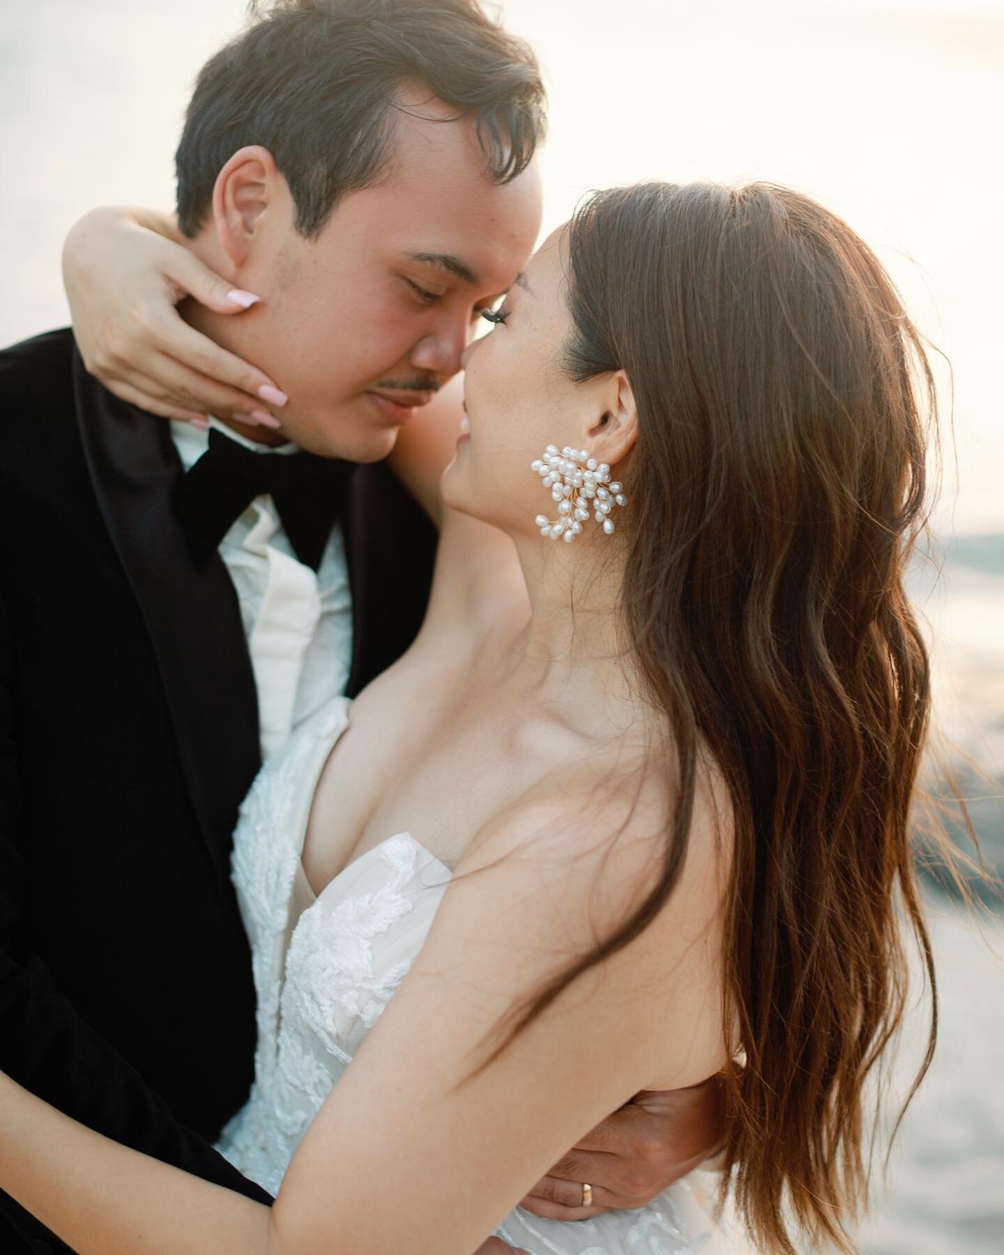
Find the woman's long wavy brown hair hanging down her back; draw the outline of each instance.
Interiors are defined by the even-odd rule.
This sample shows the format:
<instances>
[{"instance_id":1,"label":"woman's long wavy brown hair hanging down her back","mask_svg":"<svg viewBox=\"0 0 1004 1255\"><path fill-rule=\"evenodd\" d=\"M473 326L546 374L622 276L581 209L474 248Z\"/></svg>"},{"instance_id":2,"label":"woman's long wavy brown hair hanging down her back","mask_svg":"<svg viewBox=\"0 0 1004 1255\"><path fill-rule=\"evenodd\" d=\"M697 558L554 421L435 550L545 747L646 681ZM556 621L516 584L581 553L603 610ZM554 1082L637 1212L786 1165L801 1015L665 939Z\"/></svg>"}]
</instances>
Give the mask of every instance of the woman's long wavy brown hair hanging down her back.
<instances>
[{"instance_id":1,"label":"woman's long wavy brown hair hanging down her back","mask_svg":"<svg viewBox=\"0 0 1004 1255\"><path fill-rule=\"evenodd\" d=\"M783 187L604 192L567 245L566 366L624 369L638 403L621 614L676 803L656 889L516 1032L665 905L709 753L734 822L732 1186L763 1249L850 1250L910 930L935 994L910 838L930 676L904 592L930 366L868 247Z\"/></svg>"}]
</instances>

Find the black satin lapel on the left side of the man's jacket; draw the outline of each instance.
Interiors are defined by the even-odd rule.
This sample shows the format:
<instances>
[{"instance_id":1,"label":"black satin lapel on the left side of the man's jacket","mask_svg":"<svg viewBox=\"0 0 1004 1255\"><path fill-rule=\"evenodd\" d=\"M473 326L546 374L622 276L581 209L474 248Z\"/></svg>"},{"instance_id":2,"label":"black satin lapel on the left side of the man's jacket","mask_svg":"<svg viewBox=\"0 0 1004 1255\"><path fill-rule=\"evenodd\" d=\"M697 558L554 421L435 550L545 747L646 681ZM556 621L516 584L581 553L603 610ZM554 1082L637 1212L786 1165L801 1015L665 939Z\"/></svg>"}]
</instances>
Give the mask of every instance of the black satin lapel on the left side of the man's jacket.
<instances>
[{"instance_id":1,"label":"black satin lapel on the left side of the man's jacket","mask_svg":"<svg viewBox=\"0 0 1004 1255\"><path fill-rule=\"evenodd\" d=\"M74 392L94 492L143 611L192 803L227 877L237 806L260 762L237 595L222 558L200 570L191 556L172 507L183 472L167 420L113 397L77 353Z\"/></svg>"}]
</instances>

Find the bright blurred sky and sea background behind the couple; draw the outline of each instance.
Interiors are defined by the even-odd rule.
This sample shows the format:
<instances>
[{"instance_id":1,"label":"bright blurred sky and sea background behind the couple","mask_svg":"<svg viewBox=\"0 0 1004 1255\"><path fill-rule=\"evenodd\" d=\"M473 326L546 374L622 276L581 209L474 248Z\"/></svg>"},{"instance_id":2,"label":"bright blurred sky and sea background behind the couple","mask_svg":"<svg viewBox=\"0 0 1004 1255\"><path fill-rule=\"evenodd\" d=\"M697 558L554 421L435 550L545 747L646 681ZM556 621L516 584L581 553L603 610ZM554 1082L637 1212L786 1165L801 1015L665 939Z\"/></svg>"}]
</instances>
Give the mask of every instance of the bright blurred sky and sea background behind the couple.
<instances>
[{"instance_id":1,"label":"bright blurred sky and sea background behind the couple","mask_svg":"<svg viewBox=\"0 0 1004 1255\"><path fill-rule=\"evenodd\" d=\"M921 563L915 597L937 722L1004 871L1004 0L508 0L501 13L551 94L545 231L592 187L788 183L865 236L951 363L937 359L941 571ZM59 252L75 217L173 205L195 74L243 16L243 0L4 5L0 344L67 321ZM927 896L940 1044L860 1242L871 1255L1000 1255L1004 910L986 906L980 932L935 878ZM921 1001L894 1093L925 1014Z\"/></svg>"}]
</instances>

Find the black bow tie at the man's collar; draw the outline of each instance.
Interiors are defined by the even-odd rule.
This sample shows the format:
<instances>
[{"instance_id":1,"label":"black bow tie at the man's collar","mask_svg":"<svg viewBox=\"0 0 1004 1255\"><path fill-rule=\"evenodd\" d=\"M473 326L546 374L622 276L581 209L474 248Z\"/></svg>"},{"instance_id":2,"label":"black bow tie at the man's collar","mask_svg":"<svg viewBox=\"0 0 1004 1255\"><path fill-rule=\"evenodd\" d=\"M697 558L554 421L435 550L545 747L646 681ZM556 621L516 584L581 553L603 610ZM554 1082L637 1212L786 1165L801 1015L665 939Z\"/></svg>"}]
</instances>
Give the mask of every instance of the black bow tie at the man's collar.
<instances>
[{"instance_id":1,"label":"black bow tie at the man's collar","mask_svg":"<svg viewBox=\"0 0 1004 1255\"><path fill-rule=\"evenodd\" d=\"M222 432L184 476L178 510L196 561L207 562L233 521L264 493L299 560L315 571L339 516L354 463L312 453L256 453Z\"/></svg>"}]
</instances>

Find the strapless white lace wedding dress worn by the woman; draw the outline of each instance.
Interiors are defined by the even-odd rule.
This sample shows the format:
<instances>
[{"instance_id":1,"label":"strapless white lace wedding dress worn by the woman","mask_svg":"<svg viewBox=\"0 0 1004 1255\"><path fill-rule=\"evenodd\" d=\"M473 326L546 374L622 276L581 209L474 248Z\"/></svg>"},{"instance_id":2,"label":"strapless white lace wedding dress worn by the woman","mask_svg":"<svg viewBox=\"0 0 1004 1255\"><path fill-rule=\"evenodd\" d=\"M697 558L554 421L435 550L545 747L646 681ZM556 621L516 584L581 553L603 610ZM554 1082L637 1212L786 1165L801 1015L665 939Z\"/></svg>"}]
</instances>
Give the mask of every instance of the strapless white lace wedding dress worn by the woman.
<instances>
[{"instance_id":1,"label":"strapless white lace wedding dress worn by the woman","mask_svg":"<svg viewBox=\"0 0 1004 1255\"><path fill-rule=\"evenodd\" d=\"M269 761L235 833L233 881L251 940L259 1039L251 1094L218 1148L271 1194L422 949L451 878L448 867L400 832L353 861L320 896L310 890L300 861L310 807L348 727L349 705L345 698L330 703ZM698 1172L638 1211L558 1222L516 1209L496 1232L533 1255L750 1251L738 1226L710 1219L712 1192L709 1175Z\"/></svg>"}]
</instances>

